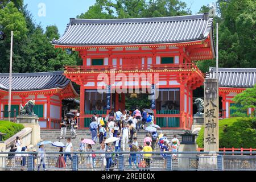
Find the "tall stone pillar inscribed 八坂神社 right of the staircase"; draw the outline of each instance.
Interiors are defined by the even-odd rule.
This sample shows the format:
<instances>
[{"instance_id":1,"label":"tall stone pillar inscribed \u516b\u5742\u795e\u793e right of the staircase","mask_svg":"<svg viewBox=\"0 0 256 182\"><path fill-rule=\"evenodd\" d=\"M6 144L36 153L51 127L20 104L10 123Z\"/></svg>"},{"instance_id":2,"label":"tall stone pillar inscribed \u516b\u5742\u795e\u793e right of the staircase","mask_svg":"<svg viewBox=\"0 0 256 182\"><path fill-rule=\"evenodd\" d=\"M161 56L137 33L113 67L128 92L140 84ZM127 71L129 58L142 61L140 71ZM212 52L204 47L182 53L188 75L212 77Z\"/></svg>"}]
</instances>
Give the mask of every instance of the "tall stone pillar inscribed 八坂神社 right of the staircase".
<instances>
[{"instance_id":1,"label":"tall stone pillar inscribed \u516b\u5742\u795e\u793e right of the staircase","mask_svg":"<svg viewBox=\"0 0 256 182\"><path fill-rule=\"evenodd\" d=\"M204 151L218 152L218 80L204 82Z\"/></svg>"}]
</instances>

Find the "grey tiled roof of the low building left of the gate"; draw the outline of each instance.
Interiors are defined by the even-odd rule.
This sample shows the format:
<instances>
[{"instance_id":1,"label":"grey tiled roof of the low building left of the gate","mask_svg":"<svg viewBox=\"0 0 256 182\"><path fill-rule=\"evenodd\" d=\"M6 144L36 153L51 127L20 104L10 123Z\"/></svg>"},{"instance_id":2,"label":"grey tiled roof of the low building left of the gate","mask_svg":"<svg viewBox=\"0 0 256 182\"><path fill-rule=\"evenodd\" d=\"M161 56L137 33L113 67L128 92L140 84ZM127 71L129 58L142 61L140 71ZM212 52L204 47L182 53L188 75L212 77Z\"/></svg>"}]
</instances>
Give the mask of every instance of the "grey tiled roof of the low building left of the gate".
<instances>
[{"instance_id":1,"label":"grey tiled roof of the low building left of the gate","mask_svg":"<svg viewBox=\"0 0 256 182\"><path fill-rule=\"evenodd\" d=\"M13 91L44 90L64 88L70 82L63 71L41 73L13 73ZM9 89L9 73L0 74L0 89Z\"/></svg>"}]
</instances>

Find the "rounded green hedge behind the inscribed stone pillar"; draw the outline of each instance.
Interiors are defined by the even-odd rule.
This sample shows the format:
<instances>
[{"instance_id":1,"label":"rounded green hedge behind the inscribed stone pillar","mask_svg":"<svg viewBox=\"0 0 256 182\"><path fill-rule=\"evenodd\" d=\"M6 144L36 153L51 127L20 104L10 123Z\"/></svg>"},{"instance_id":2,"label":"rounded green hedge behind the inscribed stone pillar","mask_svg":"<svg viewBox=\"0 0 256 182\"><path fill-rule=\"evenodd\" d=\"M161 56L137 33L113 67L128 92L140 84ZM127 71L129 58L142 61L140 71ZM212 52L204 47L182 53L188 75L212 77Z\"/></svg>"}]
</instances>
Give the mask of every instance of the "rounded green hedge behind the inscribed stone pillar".
<instances>
[{"instance_id":1,"label":"rounded green hedge behind the inscribed stone pillar","mask_svg":"<svg viewBox=\"0 0 256 182\"><path fill-rule=\"evenodd\" d=\"M219 121L219 147L256 148L256 118L229 118ZM201 128L196 143L204 147L204 127Z\"/></svg>"}]
</instances>

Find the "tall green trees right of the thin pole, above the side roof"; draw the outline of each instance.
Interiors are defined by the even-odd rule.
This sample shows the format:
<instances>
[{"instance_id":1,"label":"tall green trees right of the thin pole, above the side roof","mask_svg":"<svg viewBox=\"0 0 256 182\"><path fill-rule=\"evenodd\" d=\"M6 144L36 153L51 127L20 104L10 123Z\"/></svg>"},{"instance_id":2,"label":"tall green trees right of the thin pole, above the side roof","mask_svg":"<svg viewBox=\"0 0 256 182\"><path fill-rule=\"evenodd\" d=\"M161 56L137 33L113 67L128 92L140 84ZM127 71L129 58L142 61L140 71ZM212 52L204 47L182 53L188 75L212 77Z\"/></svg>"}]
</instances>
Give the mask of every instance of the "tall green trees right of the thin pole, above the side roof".
<instances>
[{"instance_id":1,"label":"tall green trees right of the thin pole, above the side roof","mask_svg":"<svg viewBox=\"0 0 256 182\"><path fill-rule=\"evenodd\" d=\"M255 68L256 1L218 1L220 22L220 66Z\"/></svg>"}]
</instances>

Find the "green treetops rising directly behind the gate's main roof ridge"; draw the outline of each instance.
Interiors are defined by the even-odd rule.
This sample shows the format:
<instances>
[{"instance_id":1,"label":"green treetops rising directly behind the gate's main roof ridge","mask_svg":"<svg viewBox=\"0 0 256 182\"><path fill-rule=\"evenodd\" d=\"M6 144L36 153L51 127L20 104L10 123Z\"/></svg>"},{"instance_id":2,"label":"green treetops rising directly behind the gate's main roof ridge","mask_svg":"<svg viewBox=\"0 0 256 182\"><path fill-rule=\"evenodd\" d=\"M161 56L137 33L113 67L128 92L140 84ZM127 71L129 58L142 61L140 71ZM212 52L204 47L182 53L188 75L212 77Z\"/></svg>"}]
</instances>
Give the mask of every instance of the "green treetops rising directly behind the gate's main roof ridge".
<instances>
[{"instance_id":1,"label":"green treetops rising directly behind the gate's main roof ridge","mask_svg":"<svg viewBox=\"0 0 256 182\"><path fill-rule=\"evenodd\" d=\"M144 18L188 15L187 4L178 0L96 0L77 18Z\"/></svg>"}]
</instances>

